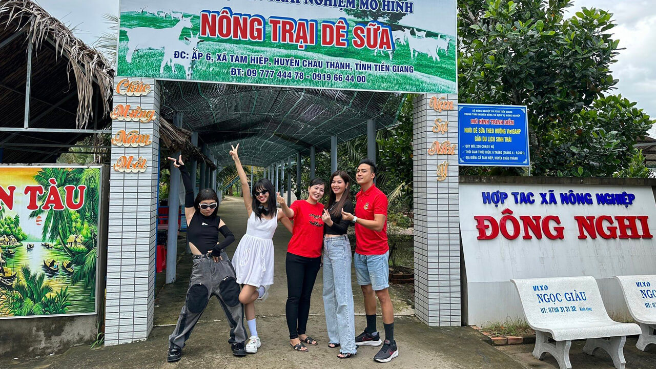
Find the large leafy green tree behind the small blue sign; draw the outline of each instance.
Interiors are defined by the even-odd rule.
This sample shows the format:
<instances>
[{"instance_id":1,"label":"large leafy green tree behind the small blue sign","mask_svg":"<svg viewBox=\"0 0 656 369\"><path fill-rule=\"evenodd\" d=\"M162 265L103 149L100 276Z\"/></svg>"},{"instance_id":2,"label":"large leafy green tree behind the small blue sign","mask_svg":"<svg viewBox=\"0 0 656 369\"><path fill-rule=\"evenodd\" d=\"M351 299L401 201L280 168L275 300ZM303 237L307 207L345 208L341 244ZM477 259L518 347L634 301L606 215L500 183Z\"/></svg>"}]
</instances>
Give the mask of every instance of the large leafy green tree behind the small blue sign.
<instances>
[{"instance_id":1,"label":"large leafy green tree behind the small blue sign","mask_svg":"<svg viewBox=\"0 0 656 369\"><path fill-rule=\"evenodd\" d=\"M612 14L572 0L459 0L459 98L527 105L535 175L610 176L629 165L653 121L608 95L619 40ZM464 173L516 174L512 168Z\"/></svg>"}]
</instances>

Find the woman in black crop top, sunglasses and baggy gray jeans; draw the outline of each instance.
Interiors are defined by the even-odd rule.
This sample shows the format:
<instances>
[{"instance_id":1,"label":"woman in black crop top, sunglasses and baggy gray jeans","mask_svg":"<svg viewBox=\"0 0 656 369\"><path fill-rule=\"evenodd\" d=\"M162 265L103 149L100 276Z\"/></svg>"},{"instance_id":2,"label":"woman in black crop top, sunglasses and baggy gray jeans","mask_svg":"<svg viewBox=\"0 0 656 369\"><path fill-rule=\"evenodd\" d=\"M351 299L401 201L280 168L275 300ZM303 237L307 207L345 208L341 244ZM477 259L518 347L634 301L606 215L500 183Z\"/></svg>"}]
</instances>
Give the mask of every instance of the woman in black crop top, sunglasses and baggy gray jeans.
<instances>
[{"instance_id":1,"label":"woman in black crop top, sunglasses and baggy gray jeans","mask_svg":"<svg viewBox=\"0 0 656 369\"><path fill-rule=\"evenodd\" d=\"M174 167L180 169L184 183L184 215L187 219L187 237L192 250L192 276L189 280L189 290L186 301L180 311L178 324L169 336L169 362L180 360L184 342L194 329L203 314L207 301L213 295L220 302L228 324L230 324L230 339L232 353L245 356L246 330L243 325L243 307L239 303L239 285L235 278L235 270L226 255L226 247L235 237L226 223L216 214L218 196L215 190L205 188L198 191L194 199L194 186L189 177L182 155L173 161ZM218 242L218 233L224 240ZM170 245L169 247L175 247Z\"/></svg>"}]
</instances>

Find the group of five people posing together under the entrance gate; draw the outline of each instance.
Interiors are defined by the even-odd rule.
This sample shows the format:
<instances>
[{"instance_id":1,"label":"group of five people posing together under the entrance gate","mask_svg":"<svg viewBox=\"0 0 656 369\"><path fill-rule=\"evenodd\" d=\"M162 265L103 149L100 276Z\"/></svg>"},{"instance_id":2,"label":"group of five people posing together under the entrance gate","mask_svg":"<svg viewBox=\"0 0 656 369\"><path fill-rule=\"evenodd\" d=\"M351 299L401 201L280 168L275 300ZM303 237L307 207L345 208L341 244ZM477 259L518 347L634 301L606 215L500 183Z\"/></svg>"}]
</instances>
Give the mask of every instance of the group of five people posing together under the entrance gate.
<instances>
[{"instance_id":1,"label":"group of five people posing together under the entrance gate","mask_svg":"<svg viewBox=\"0 0 656 369\"><path fill-rule=\"evenodd\" d=\"M338 348L338 358L356 355L359 345L379 346L378 362L398 356L394 341L394 308L388 293L387 197L375 186L376 165L363 160L356 169L360 186L354 206L350 196L351 177L335 171L328 183L315 178L308 186L308 198L287 205L268 179L259 179L249 188L237 146L230 156L235 162L243 201L248 213L243 235L232 262L225 248L234 235L217 215L218 196L211 188L200 190L194 198L194 186L180 158L169 158L180 169L185 187L187 234L192 250L192 276L185 305L178 323L169 336L169 362L182 357L182 347L212 295L218 297L228 324L232 353L244 356L256 353L262 345L255 320L255 301L264 301L274 284L273 236L280 221L292 234L287 246L287 303L285 316L289 328L289 345L298 352L308 352L308 345L318 345L308 336L310 297L319 269L323 267L323 305L330 348ZM328 188L327 188L328 187ZM327 206L321 199L328 192ZM279 206L279 208L278 208ZM355 335L354 300L351 288L351 246L348 227L354 224L356 251L354 265L361 287L367 327ZM218 234L224 236L219 242ZM241 289L240 289L241 286ZM377 299L382 309L385 339L377 331ZM243 312L243 313L242 313ZM243 315L249 330L247 339Z\"/></svg>"}]
</instances>

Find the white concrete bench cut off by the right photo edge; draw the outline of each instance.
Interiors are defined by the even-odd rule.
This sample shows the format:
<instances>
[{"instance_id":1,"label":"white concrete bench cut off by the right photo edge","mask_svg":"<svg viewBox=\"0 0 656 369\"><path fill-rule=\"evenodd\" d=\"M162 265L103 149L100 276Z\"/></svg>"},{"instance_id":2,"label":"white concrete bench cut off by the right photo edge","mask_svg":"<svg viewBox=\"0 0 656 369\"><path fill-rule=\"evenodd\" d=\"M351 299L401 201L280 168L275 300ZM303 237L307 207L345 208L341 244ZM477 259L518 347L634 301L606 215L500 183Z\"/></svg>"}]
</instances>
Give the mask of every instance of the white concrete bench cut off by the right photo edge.
<instances>
[{"instance_id":1,"label":"white concrete bench cut off by the right photo edge","mask_svg":"<svg viewBox=\"0 0 656 369\"><path fill-rule=\"evenodd\" d=\"M636 347L645 351L647 345L656 345L656 275L615 276L619 282L629 313L642 333Z\"/></svg>"}]
</instances>

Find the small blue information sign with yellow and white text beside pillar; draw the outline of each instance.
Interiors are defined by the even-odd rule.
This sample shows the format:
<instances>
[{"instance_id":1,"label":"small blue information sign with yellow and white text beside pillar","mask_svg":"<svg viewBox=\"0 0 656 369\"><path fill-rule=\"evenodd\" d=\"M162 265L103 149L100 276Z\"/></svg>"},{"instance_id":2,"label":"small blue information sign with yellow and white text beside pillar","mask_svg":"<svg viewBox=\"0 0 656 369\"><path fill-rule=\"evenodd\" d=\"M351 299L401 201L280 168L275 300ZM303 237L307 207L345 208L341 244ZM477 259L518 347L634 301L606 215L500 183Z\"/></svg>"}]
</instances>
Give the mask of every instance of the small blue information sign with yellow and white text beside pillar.
<instances>
[{"instance_id":1,"label":"small blue information sign with yellow and white text beside pillar","mask_svg":"<svg viewBox=\"0 0 656 369\"><path fill-rule=\"evenodd\" d=\"M459 165L529 166L526 106L458 104Z\"/></svg>"}]
</instances>

